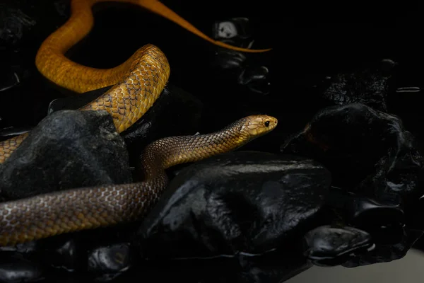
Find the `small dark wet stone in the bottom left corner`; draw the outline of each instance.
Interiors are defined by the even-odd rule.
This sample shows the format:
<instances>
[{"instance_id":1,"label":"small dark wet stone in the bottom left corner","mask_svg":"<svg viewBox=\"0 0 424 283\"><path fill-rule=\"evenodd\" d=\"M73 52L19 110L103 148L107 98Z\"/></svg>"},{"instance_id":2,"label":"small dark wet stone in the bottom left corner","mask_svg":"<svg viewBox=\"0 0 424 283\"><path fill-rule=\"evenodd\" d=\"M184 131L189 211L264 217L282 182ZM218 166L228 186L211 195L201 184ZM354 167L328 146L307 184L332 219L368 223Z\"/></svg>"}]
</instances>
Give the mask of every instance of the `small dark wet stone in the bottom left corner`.
<instances>
[{"instance_id":1,"label":"small dark wet stone in the bottom left corner","mask_svg":"<svg viewBox=\"0 0 424 283\"><path fill-rule=\"evenodd\" d=\"M42 279L42 269L37 263L17 254L2 253L0 257L0 282L35 282Z\"/></svg>"}]
</instances>

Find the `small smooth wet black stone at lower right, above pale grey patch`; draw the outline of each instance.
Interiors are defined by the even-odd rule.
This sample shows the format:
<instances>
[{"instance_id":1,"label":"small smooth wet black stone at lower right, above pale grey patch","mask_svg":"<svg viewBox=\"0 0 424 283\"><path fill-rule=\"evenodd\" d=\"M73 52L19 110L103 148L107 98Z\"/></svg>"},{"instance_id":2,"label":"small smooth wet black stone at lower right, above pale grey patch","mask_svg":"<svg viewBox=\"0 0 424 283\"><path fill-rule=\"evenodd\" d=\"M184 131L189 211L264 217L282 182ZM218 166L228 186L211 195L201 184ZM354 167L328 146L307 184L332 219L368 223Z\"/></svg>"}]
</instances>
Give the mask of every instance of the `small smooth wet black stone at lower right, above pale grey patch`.
<instances>
[{"instance_id":1,"label":"small smooth wet black stone at lower right, above pale grey patch","mask_svg":"<svg viewBox=\"0 0 424 283\"><path fill-rule=\"evenodd\" d=\"M314 265L341 265L374 243L369 233L353 227L320 226L305 235L305 255Z\"/></svg>"}]
</instances>

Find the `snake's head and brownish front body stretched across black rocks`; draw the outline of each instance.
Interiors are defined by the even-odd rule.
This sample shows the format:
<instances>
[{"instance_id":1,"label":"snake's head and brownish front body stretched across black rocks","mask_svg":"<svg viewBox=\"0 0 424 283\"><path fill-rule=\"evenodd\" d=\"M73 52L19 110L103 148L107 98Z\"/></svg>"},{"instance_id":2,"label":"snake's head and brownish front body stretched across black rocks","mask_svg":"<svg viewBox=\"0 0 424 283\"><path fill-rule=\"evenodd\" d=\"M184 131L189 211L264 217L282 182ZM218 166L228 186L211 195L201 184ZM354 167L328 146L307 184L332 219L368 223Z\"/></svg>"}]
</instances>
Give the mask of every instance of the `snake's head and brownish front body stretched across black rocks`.
<instances>
[{"instance_id":1,"label":"snake's head and brownish front body stretched across black rocks","mask_svg":"<svg viewBox=\"0 0 424 283\"><path fill-rule=\"evenodd\" d=\"M211 134L153 141L141 155L141 183L53 192L0 204L0 245L140 219L167 187L165 169L232 151L273 130L274 117L253 115Z\"/></svg>"}]
</instances>

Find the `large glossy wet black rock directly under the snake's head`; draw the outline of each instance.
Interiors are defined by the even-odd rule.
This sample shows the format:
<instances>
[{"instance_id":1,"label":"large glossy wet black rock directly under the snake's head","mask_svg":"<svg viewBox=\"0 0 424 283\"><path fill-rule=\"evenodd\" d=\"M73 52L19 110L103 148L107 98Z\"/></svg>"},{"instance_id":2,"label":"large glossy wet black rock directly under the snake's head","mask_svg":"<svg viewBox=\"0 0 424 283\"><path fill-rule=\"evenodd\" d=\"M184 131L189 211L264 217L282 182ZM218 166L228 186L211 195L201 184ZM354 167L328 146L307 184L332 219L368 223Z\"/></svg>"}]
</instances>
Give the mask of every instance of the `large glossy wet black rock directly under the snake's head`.
<instances>
[{"instance_id":1,"label":"large glossy wet black rock directly under the snake's head","mask_svg":"<svg viewBox=\"0 0 424 283\"><path fill-rule=\"evenodd\" d=\"M297 156L236 151L184 168L139 229L147 258L261 254L322 207L331 177Z\"/></svg>"}]
</instances>

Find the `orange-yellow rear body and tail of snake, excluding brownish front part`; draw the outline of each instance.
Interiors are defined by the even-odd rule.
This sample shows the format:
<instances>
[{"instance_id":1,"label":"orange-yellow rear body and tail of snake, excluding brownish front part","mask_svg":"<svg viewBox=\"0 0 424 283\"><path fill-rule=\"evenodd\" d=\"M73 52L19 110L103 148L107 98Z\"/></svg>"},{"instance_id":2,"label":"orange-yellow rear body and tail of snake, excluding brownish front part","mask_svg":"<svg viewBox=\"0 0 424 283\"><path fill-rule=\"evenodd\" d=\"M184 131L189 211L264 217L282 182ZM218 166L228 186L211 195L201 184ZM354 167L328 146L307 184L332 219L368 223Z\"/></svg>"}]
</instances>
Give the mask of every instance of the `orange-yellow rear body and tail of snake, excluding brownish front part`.
<instances>
[{"instance_id":1,"label":"orange-yellow rear body and tail of snake, excluding brownish front part","mask_svg":"<svg viewBox=\"0 0 424 283\"><path fill-rule=\"evenodd\" d=\"M84 93L105 86L115 85L122 81L124 76L128 76L129 69L132 69L132 79L130 81L127 78L125 86L115 86L115 93L110 93L109 91L102 98L83 108L84 110L103 109L110 112L114 117L118 132L122 132L132 125L132 123L139 119L151 107L165 86L169 77L170 67L165 54L160 50L155 50L157 47L153 47L153 45L146 45L140 48L126 62L111 69L86 67L72 62L64 56L69 48L82 40L83 37L86 37L91 28L93 28L94 17L91 7L98 2L106 1L124 2L142 6L148 11L157 13L177 23L182 28L189 30L189 32L220 47L240 52L266 52L271 50L249 50L213 40L157 0L72 0L69 20L42 42L35 57L35 65L47 79L56 83L58 86L75 91L76 93ZM140 64L140 62L144 64ZM150 64L151 62L153 64ZM139 66L139 71L136 71L136 66ZM156 79L162 80L155 81ZM140 93L141 96L136 96L136 91L139 91L139 88L143 86L144 88ZM119 89L122 90L122 93L119 92ZM153 93L154 95L149 96L149 93ZM134 105L133 103L136 104ZM137 110L134 106L140 106L141 108ZM123 118L123 120L119 122L118 120L120 118ZM13 139L1 141L0 163L4 163L27 136L28 134L23 134Z\"/></svg>"}]
</instances>

